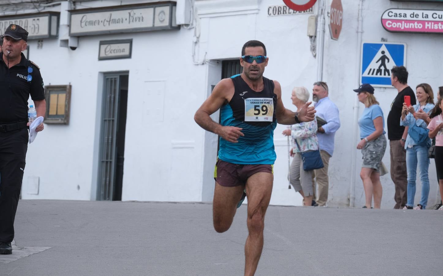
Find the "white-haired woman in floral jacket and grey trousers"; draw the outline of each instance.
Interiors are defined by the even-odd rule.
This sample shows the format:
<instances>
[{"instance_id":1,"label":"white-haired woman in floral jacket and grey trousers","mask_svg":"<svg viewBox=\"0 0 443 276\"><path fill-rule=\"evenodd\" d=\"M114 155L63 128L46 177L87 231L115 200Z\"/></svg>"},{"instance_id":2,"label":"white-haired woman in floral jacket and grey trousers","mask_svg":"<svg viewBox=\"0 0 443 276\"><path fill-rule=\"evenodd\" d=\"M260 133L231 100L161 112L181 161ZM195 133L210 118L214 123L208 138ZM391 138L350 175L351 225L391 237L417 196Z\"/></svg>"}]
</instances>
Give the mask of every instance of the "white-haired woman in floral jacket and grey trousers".
<instances>
[{"instance_id":1,"label":"white-haired woman in floral jacket and grey trousers","mask_svg":"<svg viewBox=\"0 0 443 276\"><path fill-rule=\"evenodd\" d=\"M292 104L297 107L297 111L309 100L309 91L306 87L294 87L291 95ZM317 138L317 120L302 122L291 126L291 129L283 131L286 136L292 136L293 147L290 151L292 159L289 179L295 192L303 196L303 205L311 206L314 191L312 189L313 170L303 170L301 152L319 150L319 139ZM296 143L295 143L296 142ZM298 146L296 146L298 144Z\"/></svg>"}]
</instances>

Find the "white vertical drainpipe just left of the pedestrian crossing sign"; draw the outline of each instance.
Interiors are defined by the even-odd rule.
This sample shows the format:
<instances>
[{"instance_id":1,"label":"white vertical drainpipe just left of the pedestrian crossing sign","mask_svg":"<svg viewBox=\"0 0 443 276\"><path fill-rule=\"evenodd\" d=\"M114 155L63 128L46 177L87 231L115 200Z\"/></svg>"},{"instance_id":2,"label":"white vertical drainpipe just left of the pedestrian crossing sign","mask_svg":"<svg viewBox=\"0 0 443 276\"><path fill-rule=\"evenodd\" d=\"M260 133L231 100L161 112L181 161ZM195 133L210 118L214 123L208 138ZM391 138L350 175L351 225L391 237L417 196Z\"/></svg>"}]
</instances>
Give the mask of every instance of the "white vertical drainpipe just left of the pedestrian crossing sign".
<instances>
[{"instance_id":1,"label":"white vertical drainpipe just left of the pedestrian crossing sign","mask_svg":"<svg viewBox=\"0 0 443 276\"><path fill-rule=\"evenodd\" d=\"M361 56L361 42L362 42L362 34L363 34L363 2L365 0L360 0L360 3L358 4L358 20L357 20L357 61L356 69L355 71L358 72L358 74L361 74L360 72L360 56ZM360 86L360 78L357 78L357 87ZM354 100L354 135L352 136L353 141L358 141L358 108L359 108L359 102L358 98L355 97ZM354 145L354 143L353 143ZM351 162L351 186L349 191L349 207L355 207L355 184L356 184L356 172L357 169L357 146L354 145L352 149L352 162Z\"/></svg>"}]
</instances>

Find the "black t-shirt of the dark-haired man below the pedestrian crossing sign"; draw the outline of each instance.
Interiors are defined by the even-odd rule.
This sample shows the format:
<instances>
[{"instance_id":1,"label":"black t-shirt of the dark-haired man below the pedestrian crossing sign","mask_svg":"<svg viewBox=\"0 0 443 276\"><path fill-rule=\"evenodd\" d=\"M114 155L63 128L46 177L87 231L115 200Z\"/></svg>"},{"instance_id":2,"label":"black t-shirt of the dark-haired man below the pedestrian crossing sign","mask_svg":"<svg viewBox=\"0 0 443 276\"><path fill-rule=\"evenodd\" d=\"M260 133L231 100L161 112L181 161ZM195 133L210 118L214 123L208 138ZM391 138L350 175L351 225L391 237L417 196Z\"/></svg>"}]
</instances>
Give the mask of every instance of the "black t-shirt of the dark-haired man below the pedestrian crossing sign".
<instances>
[{"instance_id":1,"label":"black t-shirt of the dark-haired man below the pedestrian crossing sign","mask_svg":"<svg viewBox=\"0 0 443 276\"><path fill-rule=\"evenodd\" d=\"M404 126L400 126L401 110L403 109L404 96L411 96L411 105L416 104L414 91L411 87L406 87L397 94L391 104L388 115L388 139L400 140L403 136Z\"/></svg>"}]
</instances>

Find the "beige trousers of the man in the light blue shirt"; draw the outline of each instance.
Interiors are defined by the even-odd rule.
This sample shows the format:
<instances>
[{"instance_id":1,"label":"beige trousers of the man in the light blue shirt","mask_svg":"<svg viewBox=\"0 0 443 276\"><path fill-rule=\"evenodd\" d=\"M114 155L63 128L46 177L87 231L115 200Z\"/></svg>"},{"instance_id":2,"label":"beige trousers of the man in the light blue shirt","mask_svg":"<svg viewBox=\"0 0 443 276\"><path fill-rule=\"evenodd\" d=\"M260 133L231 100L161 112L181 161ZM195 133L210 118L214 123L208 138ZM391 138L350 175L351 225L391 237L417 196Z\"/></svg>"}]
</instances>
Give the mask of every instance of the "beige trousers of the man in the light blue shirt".
<instances>
[{"instance_id":1,"label":"beige trousers of the man in the light blue shirt","mask_svg":"<svg viewBox=\"0 0 443 276\"><path fill-rule=\"evenodd\" d=\"M319 193L317 195L318 197L316 201L319 204L319 206L324 206L326 205L326 201L328 201L328 190L329 190L328 167L329 167L329 158L331 156L324 150L320 150L320 155L322 156L324 167L319 170L314 170L314 173L312 173L312 189L314 190L314 198L315 198L315 183L317 183L317 185L319 186Z\"/></svg>"}]
</instances>

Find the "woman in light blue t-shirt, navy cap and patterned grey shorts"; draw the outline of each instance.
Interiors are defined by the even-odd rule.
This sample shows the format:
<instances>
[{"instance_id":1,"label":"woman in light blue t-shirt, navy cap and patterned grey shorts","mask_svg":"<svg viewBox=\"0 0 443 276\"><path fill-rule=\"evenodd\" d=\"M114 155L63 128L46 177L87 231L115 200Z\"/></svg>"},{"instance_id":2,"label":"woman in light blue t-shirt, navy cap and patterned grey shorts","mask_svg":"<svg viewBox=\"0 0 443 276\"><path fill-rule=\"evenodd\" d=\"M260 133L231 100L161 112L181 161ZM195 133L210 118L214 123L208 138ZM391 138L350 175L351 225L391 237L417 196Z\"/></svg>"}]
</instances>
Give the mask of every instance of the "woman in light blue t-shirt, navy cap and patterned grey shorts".
<instances>
[{"instance_id":1,"label":"woman in light blue t-shirt, navy cap and patterned grey shorts","mask_svg":"<svg viewBox=\"0 0 443 276\"><path fill-rule=\"evenodd\" d=\"M374 198L374 208L380 209L383 188L380 183L381 159L385 155L385 118L379 103L374 97L374 88L370 84L362 84L358 89L358 100L365 105L363 114L358 119L361 141L357 149L363 154L360 177L365 189L366 205L371 208Z\"/></svg>"}]
</instances>

